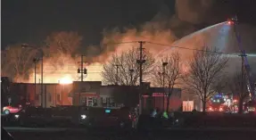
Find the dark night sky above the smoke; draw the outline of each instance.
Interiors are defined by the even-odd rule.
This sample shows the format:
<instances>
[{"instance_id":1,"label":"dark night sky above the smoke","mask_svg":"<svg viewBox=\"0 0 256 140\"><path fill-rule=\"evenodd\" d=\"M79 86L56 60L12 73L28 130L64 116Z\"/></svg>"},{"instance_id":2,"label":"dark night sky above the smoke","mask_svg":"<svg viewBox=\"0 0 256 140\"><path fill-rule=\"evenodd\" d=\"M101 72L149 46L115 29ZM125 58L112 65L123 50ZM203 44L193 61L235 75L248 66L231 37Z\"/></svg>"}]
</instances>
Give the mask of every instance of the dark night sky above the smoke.
<instances>
[{"instance_id":1,"label":"dark night sky above the smoke","mask_svg":"<svg viewBox=\"0 0 256 140\"><path fill-rule=\"evenodd\" d=\"M220 1L220 0L219 0ZM228 1L228 0L226 0ZM230 0L229 0L230 1ZM247 21L253 21L252 0L230 4ZM15 43L38 44L53 31L78 31L83 45L98 45L106 28L140 25L151 21L175 0L2 0L2 48ZM225 0L223 0L225 2ZM218 7L217 7L218 8ZM249 19L249 20L248 20ZM255 17L254 17L255 21Z\"/></svg>"}]
</instances>

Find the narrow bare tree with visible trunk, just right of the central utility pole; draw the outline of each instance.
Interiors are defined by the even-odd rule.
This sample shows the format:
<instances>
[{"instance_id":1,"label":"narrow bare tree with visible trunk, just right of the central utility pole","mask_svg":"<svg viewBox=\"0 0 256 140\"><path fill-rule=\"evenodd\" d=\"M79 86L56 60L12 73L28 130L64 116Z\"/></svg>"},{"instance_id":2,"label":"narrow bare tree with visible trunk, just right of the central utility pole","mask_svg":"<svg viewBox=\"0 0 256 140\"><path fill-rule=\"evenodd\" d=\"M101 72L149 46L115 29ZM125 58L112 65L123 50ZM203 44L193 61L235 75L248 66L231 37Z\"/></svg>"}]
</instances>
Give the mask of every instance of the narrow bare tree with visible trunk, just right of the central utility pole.
<instances>
[{"instance_id":1,"label":"narrow bare tree with visible trunk, just right of the central utility pole","mask_svg":"<svg viewBox=\"0 0 256 140\"><path fill-rule=\"evenodd\" d=\"M181 78L180 54L173 52L164 56L157 62L153 70L153 81L157 86L168 87L168 99L173 93L174 86L178 85L178 79ZM161 72L160 72L161 71ZM169 111L169 100L166 111Z\"/></svg>"}]
</instances>

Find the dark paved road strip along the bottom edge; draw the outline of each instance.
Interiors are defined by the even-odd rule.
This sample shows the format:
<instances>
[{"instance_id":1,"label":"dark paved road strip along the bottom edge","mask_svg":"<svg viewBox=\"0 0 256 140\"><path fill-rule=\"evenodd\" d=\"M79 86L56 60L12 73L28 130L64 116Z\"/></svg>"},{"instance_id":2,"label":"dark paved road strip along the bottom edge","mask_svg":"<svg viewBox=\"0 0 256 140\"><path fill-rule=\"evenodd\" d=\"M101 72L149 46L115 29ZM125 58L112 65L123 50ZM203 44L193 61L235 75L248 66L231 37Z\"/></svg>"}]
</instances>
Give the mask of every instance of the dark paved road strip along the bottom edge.
<instances>
[{"instance_id":1,"label":"dark paved road strip along the bottom edge","mask_svg":"<svg viewBox=\"0 0 256 140\"><path fill-rule=\"evenodd\" d=\"M88 132L82 128L6 128L15 140L255 140L249 128L170 128L148 134Z\"/></svg>"}]
</instances>

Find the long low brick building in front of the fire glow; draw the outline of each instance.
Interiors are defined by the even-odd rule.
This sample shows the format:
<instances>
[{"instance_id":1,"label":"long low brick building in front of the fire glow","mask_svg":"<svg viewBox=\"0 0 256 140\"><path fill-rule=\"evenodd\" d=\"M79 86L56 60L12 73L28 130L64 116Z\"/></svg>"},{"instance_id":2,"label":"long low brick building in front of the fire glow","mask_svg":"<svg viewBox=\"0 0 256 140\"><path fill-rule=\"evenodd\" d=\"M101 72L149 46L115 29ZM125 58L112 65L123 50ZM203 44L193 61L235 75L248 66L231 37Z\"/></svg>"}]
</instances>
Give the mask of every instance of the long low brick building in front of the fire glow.
<instances>
[{"instance_id":1,"label":"long low brick building in front of the fire glow","mask_svg":"<svg viewBox=\"0 0 256 140\"><path fill-rule=\"evenodd\" d=\"M36 90L35 90L36 87ZM144 108L164 107L168 97L163 93L167 89L145 86L143 89ZM20 103L29 102L35 106L43 104L45 107L56 105L87 106L135 106L138 104L139 86L102 86L101 81L78 82L72 84L44 84L43 94L41 85L31 83L13 83L12 92L20 96ZM163 96L164 95L164 96ZM43 96L43 98L42 98ZM169 101L169 110L178 110L181 107L181 89L175 88Z\"/></svg>"}]
</instances>

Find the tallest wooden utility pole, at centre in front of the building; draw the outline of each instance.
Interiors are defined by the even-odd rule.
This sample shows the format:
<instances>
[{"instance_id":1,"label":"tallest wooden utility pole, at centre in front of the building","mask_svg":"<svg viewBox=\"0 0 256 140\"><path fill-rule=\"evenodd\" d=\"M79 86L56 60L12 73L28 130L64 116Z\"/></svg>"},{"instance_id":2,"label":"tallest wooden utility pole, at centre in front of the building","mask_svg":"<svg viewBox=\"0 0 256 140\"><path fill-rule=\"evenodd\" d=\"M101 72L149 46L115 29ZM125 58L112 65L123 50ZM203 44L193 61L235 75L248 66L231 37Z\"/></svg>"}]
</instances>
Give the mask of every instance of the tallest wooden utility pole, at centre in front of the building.
<instances>
[{"instance_id":1,"label":"tallest wooden utility pole, at centre in front of the building","mask_svg":"<svg viewBox=\"0 0 256 140\"><path fill-rule=\"evenodd\" d=\"M139 64L139 87L140 87L140 92L139 92L139 114L142 114L142 95L143 95L143 73L142 73L142 65L145 63L145 60L143 59L143 45L145 44L145 41L138 41L139 43L139 60L136 60L136 62Z\"/></svg>"}]
</instances>

